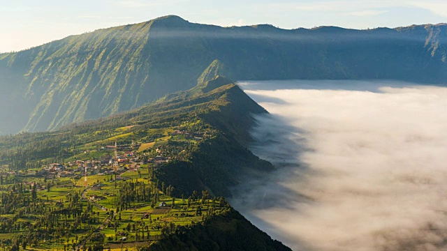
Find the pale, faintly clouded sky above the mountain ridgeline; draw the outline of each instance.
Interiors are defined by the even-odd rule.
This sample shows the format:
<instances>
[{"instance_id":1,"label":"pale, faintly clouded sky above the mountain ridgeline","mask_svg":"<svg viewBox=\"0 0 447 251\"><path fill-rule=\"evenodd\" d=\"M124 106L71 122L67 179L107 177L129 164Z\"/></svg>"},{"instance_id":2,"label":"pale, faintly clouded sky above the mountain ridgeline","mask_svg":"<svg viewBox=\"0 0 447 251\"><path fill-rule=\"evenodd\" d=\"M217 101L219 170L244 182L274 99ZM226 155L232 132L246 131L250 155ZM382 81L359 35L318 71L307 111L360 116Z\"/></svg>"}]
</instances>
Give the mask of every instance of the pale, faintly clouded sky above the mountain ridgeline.
<instances>
[{"instance_id":1,"label":"pale, faintly clouded sky above the mountain ridgeline","mask_svg":"<svg viewBox=\"0 0 447 251\"><path fill-rule=\"evenodd\" d=\"M163 15L221 26L367 29L447 22L447 0L0 0L0 52Z\"/></svg>"}]
</instances>

